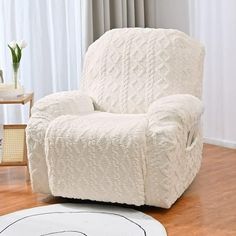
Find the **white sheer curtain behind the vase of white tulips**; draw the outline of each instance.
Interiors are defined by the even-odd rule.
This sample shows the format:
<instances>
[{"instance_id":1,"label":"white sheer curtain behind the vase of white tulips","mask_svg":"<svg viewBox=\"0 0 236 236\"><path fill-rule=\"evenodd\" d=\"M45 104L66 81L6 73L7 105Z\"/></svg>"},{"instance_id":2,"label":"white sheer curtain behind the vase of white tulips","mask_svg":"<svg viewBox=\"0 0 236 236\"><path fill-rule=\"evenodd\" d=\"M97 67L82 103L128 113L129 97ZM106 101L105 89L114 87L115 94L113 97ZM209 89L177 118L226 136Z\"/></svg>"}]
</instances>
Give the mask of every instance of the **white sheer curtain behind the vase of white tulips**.
<instances>
[{"instance_id":1,"label":"white sheer curtain behind the vase of white tulips","mask_svg":"<svg viewBox=\"0 0 236 236\"><path fill-rule=\"evenodd\" d=\"M21 83L35 98L79 86L83 38L82 0L1 0L0 68L11 82L11 56L7 44L25 39L20 66ZM0 123L24 120L23 110L0 108ZM25 111L27 112L27 111Z\"/></svg>"}]
</instances>

